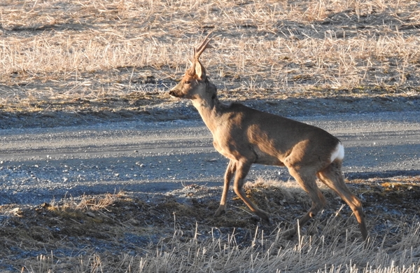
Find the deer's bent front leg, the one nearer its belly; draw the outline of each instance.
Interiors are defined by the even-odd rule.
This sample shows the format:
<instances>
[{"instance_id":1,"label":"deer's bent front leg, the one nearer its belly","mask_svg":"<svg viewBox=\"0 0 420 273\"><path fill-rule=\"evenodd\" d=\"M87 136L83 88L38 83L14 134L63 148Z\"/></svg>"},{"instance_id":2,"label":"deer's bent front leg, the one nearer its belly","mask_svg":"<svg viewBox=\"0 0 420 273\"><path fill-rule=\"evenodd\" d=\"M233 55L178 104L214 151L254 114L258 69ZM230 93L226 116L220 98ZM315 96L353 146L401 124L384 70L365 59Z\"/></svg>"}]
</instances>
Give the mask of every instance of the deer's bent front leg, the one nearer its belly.
<instances>
[{"instance_id":1,"label":"deer's bent front leg, the one nearer its belly","mask_svg":"<svg viewBox=\"0 0 420 273\"><path fill-rule=\"evenodd\" d=\"M244 189L242 188L242 186L244 186L246 174L248 174L251 165L252 163L250 162L237 161L237 171L235 174L235 181L233 183L233 190L235 190L235 193L239 196L239 198L241 198L241 200L244 201L246 206L248 206L248 208L251 209L253 214L259 216L260 218L262 218L262 220L269 223L268 214L262 209L259 209L255 204L253 204L253 202L251 202L251 200L249 200L249 198L246 197Z\"/></svg>"}]
</instances>

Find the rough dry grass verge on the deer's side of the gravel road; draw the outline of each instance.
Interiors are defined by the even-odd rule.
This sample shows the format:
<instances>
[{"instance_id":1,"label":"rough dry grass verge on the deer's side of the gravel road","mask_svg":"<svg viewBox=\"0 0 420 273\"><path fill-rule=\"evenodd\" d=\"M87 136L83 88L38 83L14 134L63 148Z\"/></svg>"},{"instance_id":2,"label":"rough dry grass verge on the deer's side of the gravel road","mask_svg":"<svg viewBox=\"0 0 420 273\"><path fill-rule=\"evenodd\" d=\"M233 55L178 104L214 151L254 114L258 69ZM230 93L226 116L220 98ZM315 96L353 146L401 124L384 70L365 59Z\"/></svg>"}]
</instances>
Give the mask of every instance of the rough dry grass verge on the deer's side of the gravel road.
<instances>
[{"instance_id":1,"label":"rough dry grass verge on the deer's side of the gravel road","mask_svg":"<svg viewBox=\"0 0 420 273\"><path fill-rule=\"evenodd\" d=\"M118 193L59 200L18 213L10 210L13 206L3 206L1 214L9 216L0 226L0 269L419 272L419 179L349 181L363 197L370 229L367 245L360 242L351 210L325 188L325 210L297 237L283 239L282 230L310 206L292 181L258 179L246 186L246 194L272 215L272 225L250 217L236 198L224 216L214 218L220 188L195 186L148 202Z\"/></svg>"}]
</instances>

